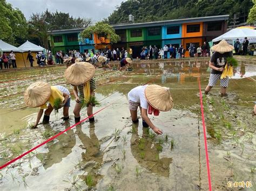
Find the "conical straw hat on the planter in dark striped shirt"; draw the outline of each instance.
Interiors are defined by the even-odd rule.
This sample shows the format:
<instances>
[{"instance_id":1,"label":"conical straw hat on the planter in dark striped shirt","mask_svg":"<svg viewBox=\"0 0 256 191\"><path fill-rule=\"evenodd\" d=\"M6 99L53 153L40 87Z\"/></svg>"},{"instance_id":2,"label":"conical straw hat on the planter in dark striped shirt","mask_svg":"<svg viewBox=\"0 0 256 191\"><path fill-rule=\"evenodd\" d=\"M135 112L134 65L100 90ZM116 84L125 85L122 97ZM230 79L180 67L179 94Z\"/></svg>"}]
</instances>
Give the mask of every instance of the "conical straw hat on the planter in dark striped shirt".
<instances>
[{"instance_id":1,"label":"conical straw hat on the planter in dark striped shirt","mask_svg":"<svg viewBox=\"0 0 256 191\"><path fill-rule=\"evenodd\" d=\"M76 62L65 70L64 77L72 85L78 86L93 77L96 69L91 63Z\"/></svg>"}]
</instances>

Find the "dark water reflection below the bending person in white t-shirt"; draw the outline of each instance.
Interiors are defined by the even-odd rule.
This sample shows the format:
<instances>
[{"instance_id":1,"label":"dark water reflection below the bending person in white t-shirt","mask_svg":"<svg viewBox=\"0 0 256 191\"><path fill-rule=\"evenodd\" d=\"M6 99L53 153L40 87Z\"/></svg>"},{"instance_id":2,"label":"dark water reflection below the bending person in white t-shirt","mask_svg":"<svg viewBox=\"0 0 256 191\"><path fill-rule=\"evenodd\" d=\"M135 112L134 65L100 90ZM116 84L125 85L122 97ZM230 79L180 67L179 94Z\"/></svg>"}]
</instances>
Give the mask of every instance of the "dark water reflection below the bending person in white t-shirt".
<instances>
[{"instance_id":1,"label":"dark water reflection below the bending person in white t-shirt","mask_svg":"<svg viewBox=\"0 0 256 191\"><path fill-rule=\"evenodd\" d=\"M172 158L159 159L159 143L154 143L147 137L148 128L143 128L143 137L138 135L138 124L133 124L134 133L131 137L131 152L140 165L150 172L169 177Z\"/></svg>"}]
</instances>

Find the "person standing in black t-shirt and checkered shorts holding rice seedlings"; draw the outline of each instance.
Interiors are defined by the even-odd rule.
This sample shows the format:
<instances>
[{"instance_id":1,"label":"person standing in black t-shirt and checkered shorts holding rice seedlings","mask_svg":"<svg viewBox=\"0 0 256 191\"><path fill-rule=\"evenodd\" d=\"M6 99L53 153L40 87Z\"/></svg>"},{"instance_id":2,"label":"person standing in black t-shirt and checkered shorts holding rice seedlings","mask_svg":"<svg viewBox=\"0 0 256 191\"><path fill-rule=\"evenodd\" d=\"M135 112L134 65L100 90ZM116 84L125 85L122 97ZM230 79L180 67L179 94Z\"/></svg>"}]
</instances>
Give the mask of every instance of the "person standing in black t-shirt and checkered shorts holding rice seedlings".
<instances>
[{"instance_id":1,"label":"person standing in black t-shirt and checkered shorts holding rice seedlings","mask_svg":"<svg viewBox=\"0 0 256 191\"><path fill-rule=\"evenodd\" d=\"M232 51L234 47L229 45L226 40L221 40L219 44L212 47L212 54L209 67L212 69L208 86L205 88L205 94L212 89L213 86L220 80L221 94L220 96L226 96L226 90L228 86L228 77L220 79L221 74L227 64L227 58L232 57Z\"/></svg>"}]
</instances>

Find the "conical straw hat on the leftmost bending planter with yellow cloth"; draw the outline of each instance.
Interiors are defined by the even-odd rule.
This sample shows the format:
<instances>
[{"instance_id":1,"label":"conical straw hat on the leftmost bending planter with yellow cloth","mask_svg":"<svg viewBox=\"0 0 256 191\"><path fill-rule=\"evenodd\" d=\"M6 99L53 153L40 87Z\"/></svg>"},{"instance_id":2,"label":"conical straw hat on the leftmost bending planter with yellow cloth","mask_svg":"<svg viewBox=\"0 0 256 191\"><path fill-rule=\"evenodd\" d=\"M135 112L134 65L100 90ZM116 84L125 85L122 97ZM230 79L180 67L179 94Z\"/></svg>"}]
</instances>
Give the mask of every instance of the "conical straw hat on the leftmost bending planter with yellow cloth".
<instances>
[{"instance_id":1,"label":"conical straw hat on the leftmost bending planter with yellow cloth","mask_svg":"<svg viewBox=\"0 0 256 191\"><path fill-rule=\"evenodd\" d=\"M24 93L24 102L31 108L45 104L51 95L51 87L46 82L32 83Z\"/></svg>"}]
</instances>

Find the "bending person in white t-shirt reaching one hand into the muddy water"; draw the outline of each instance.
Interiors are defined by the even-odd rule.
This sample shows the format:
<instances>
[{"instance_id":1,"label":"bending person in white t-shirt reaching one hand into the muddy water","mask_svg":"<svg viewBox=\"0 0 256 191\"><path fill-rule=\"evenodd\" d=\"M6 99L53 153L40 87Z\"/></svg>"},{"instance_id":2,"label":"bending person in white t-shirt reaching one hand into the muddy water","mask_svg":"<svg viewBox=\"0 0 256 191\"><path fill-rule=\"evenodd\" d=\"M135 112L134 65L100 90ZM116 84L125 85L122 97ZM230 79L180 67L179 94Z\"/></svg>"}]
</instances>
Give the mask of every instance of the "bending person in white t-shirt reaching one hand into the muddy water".
<instances>
[{"instance_id":1,"label":"bending person in white t-shirt reaching one hand into the muddy water","mask_svg":"<svg viewBox=\"0 0 256 191\"><path fill-rule=\"evenodd\" d=\"M161 135L163 132L151 122L147 114L159 115L159 111L169 111L173 107L173 100L169 88L158 85L145 85L133 88L128 93L129 109L133 123L138 123L138 107L142 114L142 125L150 127L155 133Z\"/></svg>"}]
</instances>

